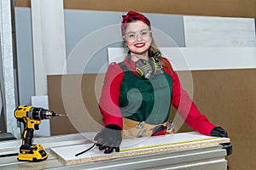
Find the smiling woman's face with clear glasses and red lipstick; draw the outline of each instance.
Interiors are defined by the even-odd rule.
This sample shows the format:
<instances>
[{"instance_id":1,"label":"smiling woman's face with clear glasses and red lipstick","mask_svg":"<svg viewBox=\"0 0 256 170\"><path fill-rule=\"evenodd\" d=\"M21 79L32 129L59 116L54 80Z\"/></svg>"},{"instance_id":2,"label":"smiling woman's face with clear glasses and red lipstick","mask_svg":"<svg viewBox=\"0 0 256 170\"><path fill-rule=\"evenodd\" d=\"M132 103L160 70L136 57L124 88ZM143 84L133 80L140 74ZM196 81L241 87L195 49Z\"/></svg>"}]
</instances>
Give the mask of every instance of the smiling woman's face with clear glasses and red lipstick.
<instances>
[{"instance_id":1,"label":"smiling woman's face with clear glasses and red lipstick","mask_svg":"<svg viewBox=\"0 0 256 170\"><path fill-rule=\"evenodd\" d=\"M152 42L149 26L141 20L127 24L124 35L125 45L133 54L147 54Z\"/></svg>"}]
</instances>

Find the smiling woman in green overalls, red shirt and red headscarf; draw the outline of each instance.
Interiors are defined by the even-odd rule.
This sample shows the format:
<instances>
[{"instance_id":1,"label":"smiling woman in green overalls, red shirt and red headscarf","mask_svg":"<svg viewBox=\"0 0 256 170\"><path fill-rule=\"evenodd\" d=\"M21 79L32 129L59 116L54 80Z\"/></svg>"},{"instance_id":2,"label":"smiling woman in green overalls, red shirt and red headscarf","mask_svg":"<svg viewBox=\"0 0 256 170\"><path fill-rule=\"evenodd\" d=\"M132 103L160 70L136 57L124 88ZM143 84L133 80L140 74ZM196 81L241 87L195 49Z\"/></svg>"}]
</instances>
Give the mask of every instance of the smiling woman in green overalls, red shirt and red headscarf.
<instances>
[{"instance_id":1,"label":"smiling woman in green overalls, red shirt and red headscarf","mask_svg":"<svg viewBox=\"0 0 256 170\"><path fill-rule=\"evenodd\" d=\"M99 149L104 153L119 151L123 130L126 137L167 133L171 105L195 131L227 137L222 127L213 125L197 110L181 88L172 65L160 56L148 18L129 11L123 16L121 31L129 52L123 62L110 64L105 76L99 101L104 128L95 138Z\"/></svg>"}]
</instances>

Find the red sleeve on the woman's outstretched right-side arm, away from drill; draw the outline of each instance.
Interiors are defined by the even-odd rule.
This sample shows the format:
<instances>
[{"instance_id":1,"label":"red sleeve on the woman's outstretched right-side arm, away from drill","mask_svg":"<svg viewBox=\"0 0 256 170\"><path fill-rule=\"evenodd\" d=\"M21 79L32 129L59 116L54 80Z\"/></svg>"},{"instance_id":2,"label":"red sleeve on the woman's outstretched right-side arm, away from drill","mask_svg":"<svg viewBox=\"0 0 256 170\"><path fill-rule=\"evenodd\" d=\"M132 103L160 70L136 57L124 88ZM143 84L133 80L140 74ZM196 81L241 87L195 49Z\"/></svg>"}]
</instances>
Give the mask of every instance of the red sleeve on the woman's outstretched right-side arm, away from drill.
<instances>
[{"instance_id":1,"label":"red sleeve on the woman's outstretched right-side arm, away from drill","mask_svg":"<svg viewBox=\"0 0 256 170\"><path fill-rule=\"evenodd\" d=\"M172 68L170 62L165 60ZM198 111L195 103L189 98L189 94L181 87L177 73L173 70L170 72L165 67L164 70L172 77L172 105L177 109L179 115L195 131L210 135L212 128L216 126L208 121L207 116Z\"/></svg>"}]
</instances>

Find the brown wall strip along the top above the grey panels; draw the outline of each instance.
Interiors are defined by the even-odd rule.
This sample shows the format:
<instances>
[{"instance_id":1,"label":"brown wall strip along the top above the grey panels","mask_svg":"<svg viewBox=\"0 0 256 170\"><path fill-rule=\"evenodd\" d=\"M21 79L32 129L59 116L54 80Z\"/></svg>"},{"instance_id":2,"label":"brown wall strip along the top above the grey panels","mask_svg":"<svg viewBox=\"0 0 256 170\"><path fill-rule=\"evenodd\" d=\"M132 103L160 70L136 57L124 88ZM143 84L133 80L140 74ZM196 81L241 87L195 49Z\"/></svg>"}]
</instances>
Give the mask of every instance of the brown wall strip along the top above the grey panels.
<instances>
[{"instance_id":1,"label":"brown wall strip along the top above the grey panels","mask_svg":"<svg viewBox=\"0 0 256 170\"><path fill-rule=\"evenodd\" d=\"M16 7L30 7L31 0L15 0ZM256 18L255 0L64 0L65 8L143 13L192 14Z\"/></svg>"}]
</instances>

